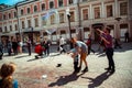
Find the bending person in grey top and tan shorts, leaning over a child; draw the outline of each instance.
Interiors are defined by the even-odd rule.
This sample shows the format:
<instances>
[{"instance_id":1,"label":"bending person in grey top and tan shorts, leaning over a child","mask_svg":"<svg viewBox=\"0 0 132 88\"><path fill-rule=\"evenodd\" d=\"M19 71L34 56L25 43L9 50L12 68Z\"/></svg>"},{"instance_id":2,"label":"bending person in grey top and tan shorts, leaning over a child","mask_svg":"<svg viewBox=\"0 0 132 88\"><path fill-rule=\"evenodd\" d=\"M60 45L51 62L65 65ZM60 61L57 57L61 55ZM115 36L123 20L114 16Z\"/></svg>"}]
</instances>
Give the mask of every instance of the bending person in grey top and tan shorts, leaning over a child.
<instances>
[{"instance_id":1,"label":"bending person in grey top and tan shorts, leaning over a child","mask_svg":"<svg viewBox=\"0 0 132 88\"><path fill-rule=\"evenodd\" d=\"M86 67L82 70L82 73L88 72L88 64L86 61L87 51L88 51L87 45L81 41L77 41L75 37L72 37L72 43L74 44L74 47L75 47L75 53L74 53L73 57L75 58L77 55L80 55L80 65L78 67L78 70L81 69L81 64L84 62Z\"/></svg>"}]
</instances>

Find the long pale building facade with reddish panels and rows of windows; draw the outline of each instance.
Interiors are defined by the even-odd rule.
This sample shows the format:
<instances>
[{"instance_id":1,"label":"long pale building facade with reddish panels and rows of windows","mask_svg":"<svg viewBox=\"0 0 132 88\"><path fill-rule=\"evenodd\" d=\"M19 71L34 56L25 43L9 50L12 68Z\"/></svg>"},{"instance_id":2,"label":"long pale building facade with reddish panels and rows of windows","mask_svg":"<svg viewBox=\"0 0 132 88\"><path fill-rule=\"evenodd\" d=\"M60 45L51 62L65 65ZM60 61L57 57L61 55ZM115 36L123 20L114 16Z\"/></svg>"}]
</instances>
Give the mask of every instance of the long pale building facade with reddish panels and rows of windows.
<instances>
[{"instance_id":1,"label":"long pale building facade with reddish panels and rows of windows","mask_svg":"<svg viewBox=\"0 0 132 88\"><path fill-rule=\"evenodd\" d=\"M86 40L96 28L110 26L114 38L132 38L131 0L28 0L0 10L0 38L7 40L48 37L53 43L64 36ZM68 12L67 12L68 11ZM69 22L68 18L69 15ZM70 28L69 28L70 24Z\"/></svg>"}]
</instances>

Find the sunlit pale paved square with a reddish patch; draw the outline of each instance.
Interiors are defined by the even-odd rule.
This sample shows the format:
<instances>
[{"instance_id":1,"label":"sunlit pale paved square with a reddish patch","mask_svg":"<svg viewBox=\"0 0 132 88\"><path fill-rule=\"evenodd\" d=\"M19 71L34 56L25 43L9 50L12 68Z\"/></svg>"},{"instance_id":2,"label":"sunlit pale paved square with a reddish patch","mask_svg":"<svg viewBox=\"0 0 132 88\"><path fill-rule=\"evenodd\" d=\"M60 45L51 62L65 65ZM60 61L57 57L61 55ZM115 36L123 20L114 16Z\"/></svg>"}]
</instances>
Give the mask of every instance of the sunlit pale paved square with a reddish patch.
<instances>
[{"instance_id":1,"label":"sunlit pale paved square with a reddish patch","mask_svg":"<svg viewBox=\"0 0 132 88\"><path fill-rule=\"evenodd\" d=\"M38 59L34 58L34 53L31 56L4 54L0 66L6 62L18 65L13 77L19 80L20 88L132 88L132 43L123 43L122 47L114 50L116 73L112 75L105 70L108 61L103 53L88 55L89 72L85 74L73 74L73 58L58 53ZM56 67L57 64L62 66Z\"/></svg>"}]
</instances>

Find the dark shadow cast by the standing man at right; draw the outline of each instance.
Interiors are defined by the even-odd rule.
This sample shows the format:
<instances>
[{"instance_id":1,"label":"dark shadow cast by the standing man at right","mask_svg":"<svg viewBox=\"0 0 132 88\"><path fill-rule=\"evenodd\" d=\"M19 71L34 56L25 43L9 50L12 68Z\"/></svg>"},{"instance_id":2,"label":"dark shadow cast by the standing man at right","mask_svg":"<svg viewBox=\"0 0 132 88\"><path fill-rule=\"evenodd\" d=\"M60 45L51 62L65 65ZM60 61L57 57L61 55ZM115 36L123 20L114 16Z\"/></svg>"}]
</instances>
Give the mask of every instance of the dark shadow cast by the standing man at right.
<instances>
[{"instance_id":1,"label":"dark shadow cast by the standing man at right","mask_svg":"<svg viewBox=\"0 0 132 88\"><path fill-rule=\"evenodd\" d=\"M96 87L100 86L105 80L107 80L109 78L109 76L111 76L112 74L105 72L101 75L97 76L96 78L89 78L89 77L81 77L81 78L86 78L86 79L90 80L88 88L96 88Z\"/></svg>"}]
</instances>

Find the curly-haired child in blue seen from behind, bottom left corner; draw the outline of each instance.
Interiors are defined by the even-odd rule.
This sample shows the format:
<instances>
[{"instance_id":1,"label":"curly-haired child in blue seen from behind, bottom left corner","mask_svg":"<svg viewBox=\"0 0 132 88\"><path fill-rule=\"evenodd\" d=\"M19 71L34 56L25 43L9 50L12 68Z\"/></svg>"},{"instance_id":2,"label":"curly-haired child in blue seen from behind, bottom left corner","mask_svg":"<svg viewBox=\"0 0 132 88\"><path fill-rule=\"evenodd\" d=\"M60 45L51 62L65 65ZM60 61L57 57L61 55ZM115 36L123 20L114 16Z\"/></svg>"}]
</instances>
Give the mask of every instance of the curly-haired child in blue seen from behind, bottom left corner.
<instances>
[{"instance_id":1,"label":"curly-haired child in blue seen from behind, bottom left corner","mask_svg":"<svg viewBox=\"0 0 132 88\"><path fill-rule=\"evenodd\" d=\"M0 68L0 88L19 88L18 80L13 79L12 75L15 70L15 64L3 64Z\"/></svg>"}]
</instances>

